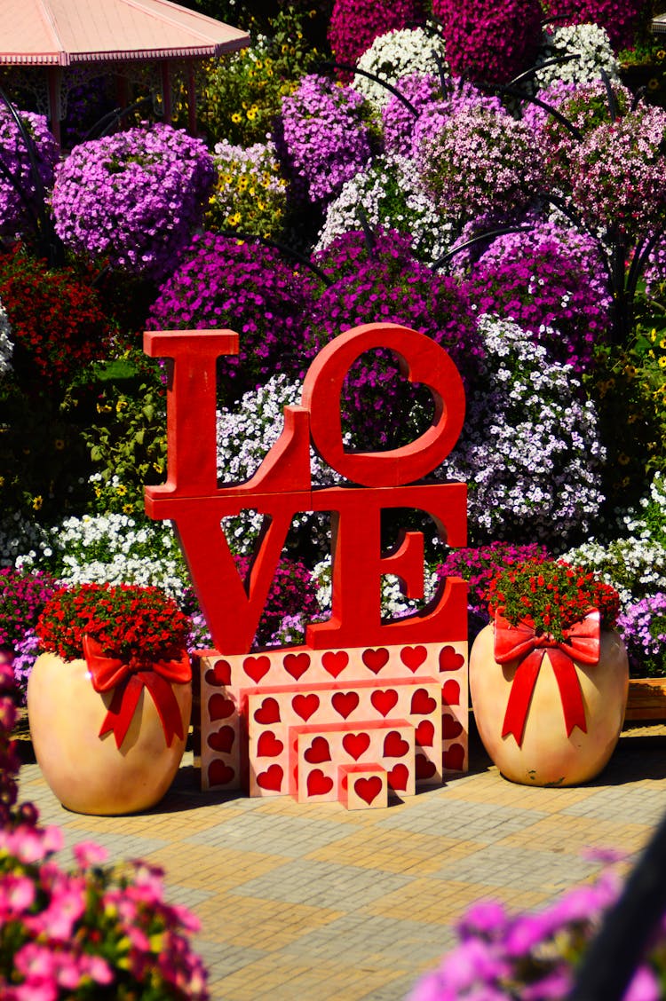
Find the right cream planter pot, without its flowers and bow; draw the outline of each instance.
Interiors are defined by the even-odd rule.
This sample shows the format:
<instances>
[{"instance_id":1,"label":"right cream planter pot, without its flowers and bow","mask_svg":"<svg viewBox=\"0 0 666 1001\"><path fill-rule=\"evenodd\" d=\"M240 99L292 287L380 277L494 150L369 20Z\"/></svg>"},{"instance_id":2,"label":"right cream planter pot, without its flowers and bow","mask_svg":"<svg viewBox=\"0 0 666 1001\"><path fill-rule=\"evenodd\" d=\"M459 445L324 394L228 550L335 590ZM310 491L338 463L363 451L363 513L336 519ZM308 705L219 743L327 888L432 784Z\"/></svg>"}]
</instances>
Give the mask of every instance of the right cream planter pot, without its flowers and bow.
<instances>
[{"instance_id":1,"label":"right cream planter pot, without its flowers and bow","mask_svg":"<svg viewBox=\"0 0 666 1001\"><path fill-rule=\"evenodd\" d=\"M574 786L601 772L618 742L629 687L625 646L617 633L600 634L599 661L571 662L580 683L586 732L567 736L563 700L548 651L527 709L522 740L503 736L519 660L495 659L495 624L477 637L470 656L470 694L479 734L505 778L528 786Z\"/></svg>"}]
</instances>

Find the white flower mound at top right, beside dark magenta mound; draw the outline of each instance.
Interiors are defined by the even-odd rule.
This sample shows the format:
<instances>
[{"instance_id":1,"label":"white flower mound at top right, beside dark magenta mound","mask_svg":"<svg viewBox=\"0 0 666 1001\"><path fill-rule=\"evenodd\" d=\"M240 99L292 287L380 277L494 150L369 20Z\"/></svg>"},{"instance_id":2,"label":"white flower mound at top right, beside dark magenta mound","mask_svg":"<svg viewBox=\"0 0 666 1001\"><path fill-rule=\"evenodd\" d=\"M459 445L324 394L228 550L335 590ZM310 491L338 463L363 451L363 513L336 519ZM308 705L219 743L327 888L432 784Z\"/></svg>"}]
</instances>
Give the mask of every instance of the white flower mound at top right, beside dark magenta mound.
<instances>
[{"instance_id":1,"label":"white flower mound at top right, beside dark magenta mound","mask_svg":"<svg viewBox=\"0 0 666 1001\"><path fill-rule=\"evenodd\" d=\"M558 82L589 83L599 79L602 69L610 80L619 83L620 64L605 28L598 24L571 24L544 32L538 65L554 56L571 55L577 55L578 59L538 70L534 77L537 88L543 89Z\"/></svg>"}]
</instances>

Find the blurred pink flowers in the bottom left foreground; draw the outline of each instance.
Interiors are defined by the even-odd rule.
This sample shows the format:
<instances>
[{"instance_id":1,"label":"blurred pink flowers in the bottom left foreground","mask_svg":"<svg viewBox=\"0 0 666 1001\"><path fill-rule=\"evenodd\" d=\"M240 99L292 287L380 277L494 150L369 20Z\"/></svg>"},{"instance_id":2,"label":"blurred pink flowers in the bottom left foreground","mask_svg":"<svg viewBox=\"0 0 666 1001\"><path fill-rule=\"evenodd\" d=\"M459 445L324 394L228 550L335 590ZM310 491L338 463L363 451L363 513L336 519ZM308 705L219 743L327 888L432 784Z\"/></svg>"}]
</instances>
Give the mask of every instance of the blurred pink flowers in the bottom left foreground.
<instances>
[{"instance_id":1,"label":"blurred pink flowers in the bottom left foreground","mask_svg":"<svg viewBox=\"0 0 666 1001\"><path fill-rule=\"evenodd\" d=\"M160 869L141 860L104 866L92 842L61 869L57 827L18 804L19 760L11 668L0 664L0 995L4 1001L205 1001L207 974L192 951L198 920L164 901Z\"/></svg>"}]
</instances>

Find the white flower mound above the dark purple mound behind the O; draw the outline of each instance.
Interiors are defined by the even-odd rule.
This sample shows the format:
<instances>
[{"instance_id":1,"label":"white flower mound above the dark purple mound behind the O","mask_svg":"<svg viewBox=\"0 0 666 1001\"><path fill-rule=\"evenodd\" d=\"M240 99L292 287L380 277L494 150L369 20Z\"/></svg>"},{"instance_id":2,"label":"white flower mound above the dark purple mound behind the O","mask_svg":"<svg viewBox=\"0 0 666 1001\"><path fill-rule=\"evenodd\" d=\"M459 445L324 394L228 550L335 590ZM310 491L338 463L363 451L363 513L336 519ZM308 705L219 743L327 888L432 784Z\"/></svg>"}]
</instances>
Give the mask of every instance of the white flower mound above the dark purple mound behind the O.
<instances>
[{"instance_id":1,"label":"white flower mound above the dark purple mound behind the O","mask_svg":"<svg viewBox=\"0 0 666 1001\"><path fill-rule=\"evenodd\" d=\"M328 205L314 250L324 250L338 236L360 229L360 207L371 227L382 225L410 236L423 260L438 260L454 242L453 222L435 208L414 160L407 156L377 157L347 181Z\"/></svg>"}]
</instances>

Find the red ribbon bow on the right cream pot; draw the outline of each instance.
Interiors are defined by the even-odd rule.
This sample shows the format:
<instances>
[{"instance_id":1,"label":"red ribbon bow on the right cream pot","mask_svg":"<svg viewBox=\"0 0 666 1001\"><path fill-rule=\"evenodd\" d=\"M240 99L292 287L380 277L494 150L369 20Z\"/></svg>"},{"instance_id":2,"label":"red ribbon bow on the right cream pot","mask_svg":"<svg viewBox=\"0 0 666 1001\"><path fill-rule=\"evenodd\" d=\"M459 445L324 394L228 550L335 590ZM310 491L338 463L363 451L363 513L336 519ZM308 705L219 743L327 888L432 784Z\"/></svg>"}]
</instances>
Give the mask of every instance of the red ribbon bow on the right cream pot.
<instances>
[{"instance_id":1,"label":"red ribbon bow on the right cream pot","mask_svg":"<svg viewBox=\"0 0 666 1001\"><path fill-rule=\"evenodd\" d=\"M567 737L571 736L574 727L587 733L583 694L574 661L599 663L599 613L590 612L582 622L574 623L565 630L564 640L560 642L547 634L537 636L534 627L525 621L512 626L504 616L496 614L495 660L499 664L520 662L502 729L502 736L513 734L519 747L523 743L527 714L546 651L560 689Z\"/></svg>"}]
</instances>

